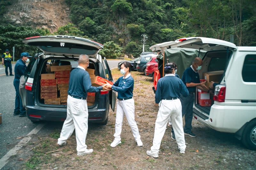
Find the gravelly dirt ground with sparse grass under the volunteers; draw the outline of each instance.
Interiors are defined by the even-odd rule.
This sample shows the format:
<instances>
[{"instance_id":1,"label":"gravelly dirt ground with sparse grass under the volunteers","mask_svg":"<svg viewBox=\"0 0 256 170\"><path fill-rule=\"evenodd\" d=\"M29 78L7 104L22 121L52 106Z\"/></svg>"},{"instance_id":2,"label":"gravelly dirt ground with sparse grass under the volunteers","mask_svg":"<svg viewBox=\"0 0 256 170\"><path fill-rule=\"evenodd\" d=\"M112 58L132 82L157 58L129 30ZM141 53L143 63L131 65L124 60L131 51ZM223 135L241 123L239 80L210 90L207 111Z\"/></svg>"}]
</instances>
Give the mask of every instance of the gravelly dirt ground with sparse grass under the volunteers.
<instances>
[{"instance_id":1,"label":"gravelly dirt ground with sparse grass under the volunteers","mask_svg":"<svg viewBox=\"0 0 256 170\"><path fill-rule=\"evenodd\" d=\"M115 79L121 76L112 71ZM256 169L256 152L246 149L233 134L212 130L193 120L192 138L185 135L186 152L180 154L176 141L171 139L171 128L165 131L159 158L148 157L152 146L158 106L154 104L153 81L142 73L132 72L134 83L135 120L143 142L138 147L126 118L122 128L122 144L110 147L115 132L115 112L109 111L107 125L89 124L86 144L93 148L90 155L76 155L75 134L66 146L57 146L62 123L50 134L36 134L12 158L12 166L5 169ZM46 153L60 150L58 152Z\"/></svg>"}]
</instances>

